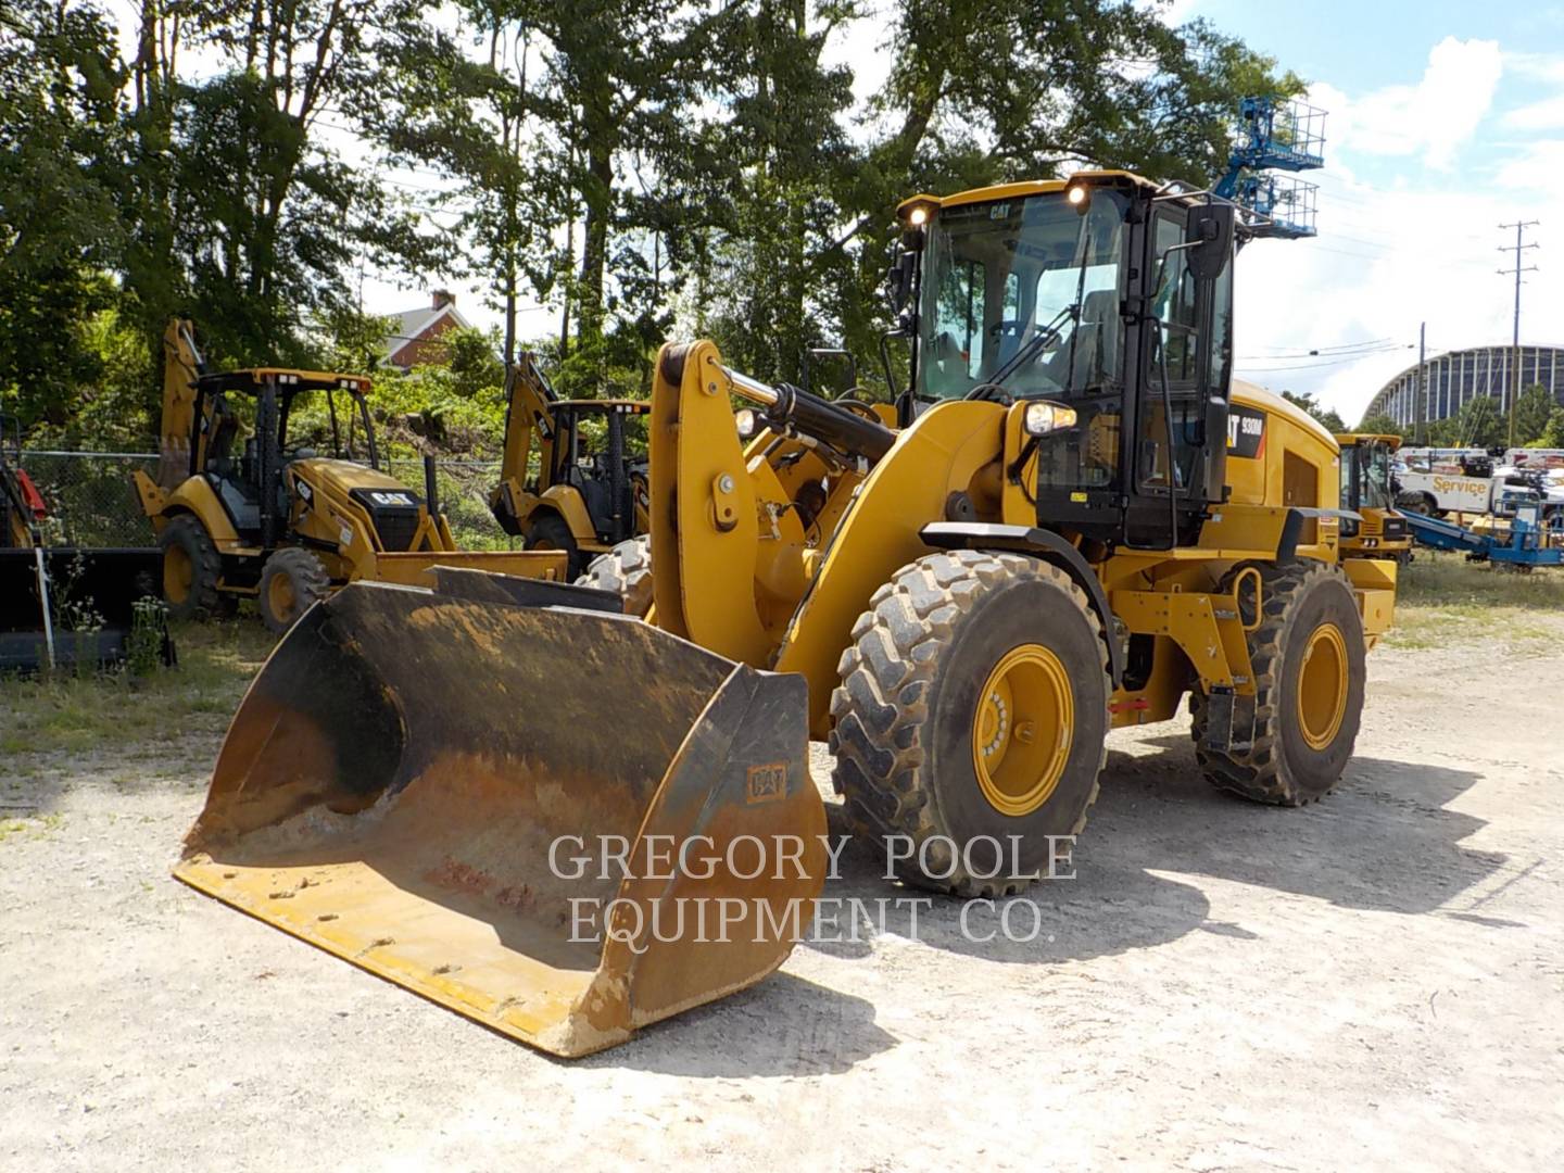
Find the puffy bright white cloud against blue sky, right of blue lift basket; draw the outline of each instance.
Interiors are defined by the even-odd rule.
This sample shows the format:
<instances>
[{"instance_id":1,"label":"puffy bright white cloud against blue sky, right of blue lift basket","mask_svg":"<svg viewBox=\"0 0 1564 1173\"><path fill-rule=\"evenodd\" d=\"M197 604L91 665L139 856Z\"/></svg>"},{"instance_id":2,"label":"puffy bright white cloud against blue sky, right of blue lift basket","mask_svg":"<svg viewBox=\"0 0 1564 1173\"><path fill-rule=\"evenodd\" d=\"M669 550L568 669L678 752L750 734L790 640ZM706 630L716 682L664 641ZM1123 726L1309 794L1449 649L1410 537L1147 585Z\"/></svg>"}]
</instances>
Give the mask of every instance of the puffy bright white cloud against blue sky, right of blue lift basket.
<instances>
[{"instance_id":1,"label":"puffy bright white cloud against blue sky, right of blue lift basket","mask_svg":"<svg viewBox=\"0 0 1564 1173\"><path fill-rule=\"evenodd\" d=\"M1320 83L1309 100L1331 111L1334 145L1367 155L1422 155L1429 167L1445 170L1492 108L1503 72L1497 41L1447 36L1429 50L1417 84L1348 99Z\"/></svg>"}]
</instances>

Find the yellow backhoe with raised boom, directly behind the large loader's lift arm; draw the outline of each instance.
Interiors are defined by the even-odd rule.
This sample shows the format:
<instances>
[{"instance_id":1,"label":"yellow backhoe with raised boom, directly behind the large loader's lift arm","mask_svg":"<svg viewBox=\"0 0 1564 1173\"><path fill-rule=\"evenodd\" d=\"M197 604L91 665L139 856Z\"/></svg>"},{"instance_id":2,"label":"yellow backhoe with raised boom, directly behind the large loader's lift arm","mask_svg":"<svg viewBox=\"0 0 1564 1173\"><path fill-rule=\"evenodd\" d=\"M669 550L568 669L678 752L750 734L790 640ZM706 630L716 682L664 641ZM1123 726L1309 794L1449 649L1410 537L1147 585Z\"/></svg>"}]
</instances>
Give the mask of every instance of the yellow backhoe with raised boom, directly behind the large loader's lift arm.
<instances>
[{"instance_id":1,"label":"yellow backhoe with raised boom, directly behind the large loader's lift arm","mask_svg":"<svg viewBox=\"0 0 1564 1173\"><path fill-rule=\"evenodd\" d=\"M626 424L649 404L560 399L530 353L505 378L505 450L490 508L529 551L563 551L574 579L594 555L646 533L646 461L630 455ZM604 422L601 450L582 443L582 421L594 418ZM529 468L533 447L536 474Z\"/></svg>"}]
</instances>

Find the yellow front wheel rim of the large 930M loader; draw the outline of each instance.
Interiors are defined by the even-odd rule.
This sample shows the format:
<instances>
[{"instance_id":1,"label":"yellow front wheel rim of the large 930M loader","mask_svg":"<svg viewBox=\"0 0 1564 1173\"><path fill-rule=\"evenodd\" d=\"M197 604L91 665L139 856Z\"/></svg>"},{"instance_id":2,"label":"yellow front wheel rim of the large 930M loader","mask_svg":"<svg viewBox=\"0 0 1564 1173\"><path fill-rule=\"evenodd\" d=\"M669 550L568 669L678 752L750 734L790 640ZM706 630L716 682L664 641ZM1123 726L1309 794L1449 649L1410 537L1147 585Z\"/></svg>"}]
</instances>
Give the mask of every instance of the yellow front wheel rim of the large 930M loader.
<instances>
[{"instance_id":1,"label":"yellow front wheel rim of the large 930M loader","mask_svg":"<svg viewBox=\"0 0 1564 1173\"><path fill-rule=\"evenodd\" d=\"M1031 815L1054 793L1074 741L1074 693L1042 644L1012 647L988 673L973 713L973 769L1001 815Z\"/></svg>"}]
</instances>

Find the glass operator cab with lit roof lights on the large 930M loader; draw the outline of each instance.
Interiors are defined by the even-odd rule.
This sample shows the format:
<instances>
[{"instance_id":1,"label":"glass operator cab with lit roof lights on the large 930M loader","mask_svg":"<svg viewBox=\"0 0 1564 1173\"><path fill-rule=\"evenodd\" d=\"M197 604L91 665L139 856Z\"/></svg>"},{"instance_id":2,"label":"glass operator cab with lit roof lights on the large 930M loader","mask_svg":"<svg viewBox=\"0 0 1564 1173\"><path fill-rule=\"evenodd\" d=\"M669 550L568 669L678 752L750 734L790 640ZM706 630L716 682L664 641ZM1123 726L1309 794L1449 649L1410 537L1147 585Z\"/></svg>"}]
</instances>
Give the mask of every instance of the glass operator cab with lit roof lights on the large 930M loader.
<instances>
[{"instance_id":1,"label":"glass operator cab with lit roof lights on the large 930M loader","mask_svg":"<svg viewBox=\"0 0 1564 1173\"><path fill-rule=\"evenodd\" d=\"M1081 172L918 196L901 219L901 422L951 399L1035 400L1007 475L1035 466L1040 526L1190 540L1223 499L1234 206Z\"/></svg>"}]
</instances>

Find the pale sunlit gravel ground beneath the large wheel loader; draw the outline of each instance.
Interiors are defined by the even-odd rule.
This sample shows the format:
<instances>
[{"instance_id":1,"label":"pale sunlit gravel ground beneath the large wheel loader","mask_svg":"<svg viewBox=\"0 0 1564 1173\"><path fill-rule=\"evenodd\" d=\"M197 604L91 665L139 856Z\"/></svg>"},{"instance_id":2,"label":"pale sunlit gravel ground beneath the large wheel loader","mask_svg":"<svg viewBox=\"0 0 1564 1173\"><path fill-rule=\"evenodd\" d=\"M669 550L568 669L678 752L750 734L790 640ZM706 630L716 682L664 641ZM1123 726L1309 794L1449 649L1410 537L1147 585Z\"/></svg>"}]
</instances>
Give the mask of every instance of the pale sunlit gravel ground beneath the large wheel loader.
<instances>
[{"instance_id":1,"label":"pale sunlit gravel ground beneath the large wheel loader","mask_svg":"<svg viewBox=\"0 0 1564 1173\"><path fill-rule=\"evenodd\" d=\"M1037 940L940 901L574 1064L172 881L214 735L16 755L0 1164L1564 1167L1564 658L1370 673L1317 807L1217 795L1187 723L1115 734ZM827 895L898 895L846 863Z\"/></svg>"}]
</instances>

